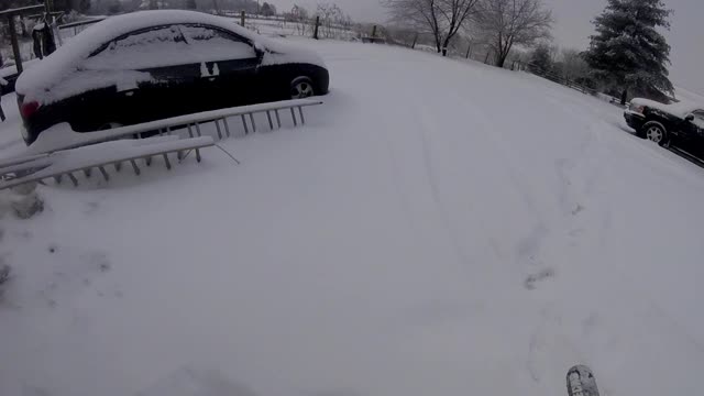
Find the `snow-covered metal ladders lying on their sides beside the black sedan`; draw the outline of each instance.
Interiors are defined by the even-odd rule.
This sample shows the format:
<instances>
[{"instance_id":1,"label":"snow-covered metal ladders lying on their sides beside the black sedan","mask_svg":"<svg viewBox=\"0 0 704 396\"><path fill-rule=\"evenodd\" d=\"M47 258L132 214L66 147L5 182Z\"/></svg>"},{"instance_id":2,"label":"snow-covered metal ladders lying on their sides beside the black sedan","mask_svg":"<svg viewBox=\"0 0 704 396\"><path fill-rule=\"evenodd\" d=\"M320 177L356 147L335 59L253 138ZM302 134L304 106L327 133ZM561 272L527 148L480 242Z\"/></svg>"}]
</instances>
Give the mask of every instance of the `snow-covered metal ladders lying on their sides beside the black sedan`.
<instances>
[{"instance_id":1,"label":"snow-covered metal ladders lying on their sides beside the black sedan","mask_svg":"<svg viewBox=\"0 0 704 396\"><path fill-rule=\"evenodd\" d=\"M74 173L82 172L89 178L95 168L108 182L110 179L107 172L108 165L113 165L114 169L120 172L122 163L128 162L139 175L136 160L144 160L144 164L151 166L153 158L158 156L164 158L166 167L170 169L169 153L176 153L180 162L187 155L184 154L185 152L195 151L196 160L200 162L200 148L216 145L215 136L202 135L200 125L204 123L213 122L218 140L221 140L226 135L227 138L232 135L229 118L239 117L244 133L249 134L250 130L256 132L254 118L256 113L265 113L270 129L274 130L275 125L282 128L280 111L288 110L294 125L297 127L299 123L306 123L304 108L317 105L322 105L322 101L296 99L251 105L87 133L75 132L67 123L54 125L40 134L37 141L28 147L24 155L0 160L0 190L34 182L43 183L48 178L54 178L58 184L63 176L67 176L75 186L78 186L78 178ZM189 138L180 139L178 135L172 135L173 130L176 129L187 129ZM160 136L120 140L127 136L140 136L143 133L158 133ZM230 155L227 151L226 154ZM234 157L232 160L239 164Z\"/></svg>"}]
</instances>

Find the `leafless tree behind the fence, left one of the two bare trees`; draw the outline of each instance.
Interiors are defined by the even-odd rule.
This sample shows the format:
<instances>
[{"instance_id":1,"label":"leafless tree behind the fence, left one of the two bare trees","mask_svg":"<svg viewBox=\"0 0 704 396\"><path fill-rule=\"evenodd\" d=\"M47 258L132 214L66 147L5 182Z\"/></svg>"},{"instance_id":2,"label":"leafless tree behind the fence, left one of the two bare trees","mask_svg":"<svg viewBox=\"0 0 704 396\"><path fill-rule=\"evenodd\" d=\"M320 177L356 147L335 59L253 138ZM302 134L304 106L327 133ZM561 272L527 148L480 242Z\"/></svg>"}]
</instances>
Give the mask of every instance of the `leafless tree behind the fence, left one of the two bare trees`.
<instances>
[{"instance_id":1,"label":"leafless tree behind the fence, left one of the two bare trees","mask_svg":"<svg viewBox=\"0 0 704 396\"><path fill-rule=\"evenodd\" d=\"M430 33L438 53L448 55L448 46L476 11L480 0L382 0L392 22Z\"/></svg>"}]
</instances>

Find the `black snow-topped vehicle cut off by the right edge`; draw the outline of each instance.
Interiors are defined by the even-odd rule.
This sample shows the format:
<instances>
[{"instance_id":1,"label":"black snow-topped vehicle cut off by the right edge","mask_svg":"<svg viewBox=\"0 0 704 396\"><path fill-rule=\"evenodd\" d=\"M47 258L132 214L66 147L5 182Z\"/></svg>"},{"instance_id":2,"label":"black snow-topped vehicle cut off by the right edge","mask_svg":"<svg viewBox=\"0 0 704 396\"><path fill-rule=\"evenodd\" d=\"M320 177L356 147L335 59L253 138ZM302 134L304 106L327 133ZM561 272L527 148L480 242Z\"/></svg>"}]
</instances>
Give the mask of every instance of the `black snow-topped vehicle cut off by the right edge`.
<instances>
[{"instance_id":1,"label":"black snow-topped vehicle cut off by the right edge","mask_svg":"<svg viewBox=\"0 0 704 396\"><path fill-rule=\"evenodd\" d=\"M702 105L663 105L648 99L634 99L624 118L644 139L660 145L673 144L697 156L704 155Z\"/></svg>"}]
</instances>

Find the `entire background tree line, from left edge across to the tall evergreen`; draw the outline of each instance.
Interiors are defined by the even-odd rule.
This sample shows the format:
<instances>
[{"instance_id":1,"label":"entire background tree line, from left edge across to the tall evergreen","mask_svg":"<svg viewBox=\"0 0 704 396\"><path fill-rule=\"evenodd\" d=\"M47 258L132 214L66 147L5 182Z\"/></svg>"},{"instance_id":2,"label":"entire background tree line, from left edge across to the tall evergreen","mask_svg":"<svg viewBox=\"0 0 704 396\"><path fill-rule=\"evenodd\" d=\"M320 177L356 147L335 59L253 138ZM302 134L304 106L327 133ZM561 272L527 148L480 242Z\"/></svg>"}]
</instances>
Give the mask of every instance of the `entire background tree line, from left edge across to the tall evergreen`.
<instances>
[{"instance_id":1,"label":"entire background tree line, from left edge across to the tall evergreen","mask_svg":"<svg viewBox=\"0 0 704 396\"><path fill-rule=\"evenodd\" d=\"M504 67L519 59L541 73L561 75L613 96L622 101L634 96L668 101L674 88L669 79L670 45L659 29L669 30L672 11L662 0L607 0L593 20L595 34L585 51L558 51L551 45L554 23L542 0L381 0L388 9L391 26L399 35L427 34L435 50L448 55L461 40L487 50L486 61ZM276 7L256 0L52 0L59 11L114 14L140 9L195 9L202 11L246 11L276 15ZM3 0L0 10L43 3L38 0ZM352 20L334 3L318 3L315 12L295 6L283 15L308 33L310 20L321 20L322 37L332 37L339 26L352 28ZM0 32L7 37L7 26ZM22 25L24 29L24 25ZM24 33L24 32L23 32ZM2 40L0 40L2 41ZM0 43L1 44L1 43Z\"/></svg>"}]
</instances>

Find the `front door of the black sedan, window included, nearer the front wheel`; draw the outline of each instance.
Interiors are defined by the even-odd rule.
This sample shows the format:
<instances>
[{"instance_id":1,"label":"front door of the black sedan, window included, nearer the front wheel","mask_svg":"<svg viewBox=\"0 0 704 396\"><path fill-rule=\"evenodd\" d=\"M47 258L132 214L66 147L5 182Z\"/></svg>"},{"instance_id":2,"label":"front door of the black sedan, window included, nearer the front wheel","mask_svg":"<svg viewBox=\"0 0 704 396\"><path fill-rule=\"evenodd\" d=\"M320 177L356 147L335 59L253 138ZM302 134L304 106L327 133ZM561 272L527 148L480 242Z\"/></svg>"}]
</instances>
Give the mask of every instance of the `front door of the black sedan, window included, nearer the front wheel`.
<instances>
[{"instance_id":1,"label":"front door of the black sedan, window included, nearer the front wheel","mask_svg":"<svg viewBox=\"0 0 704 396\"><path fill-rule=\"evenodd\" d=\"M189 43L189 56L199 63L199 81L193 92L199 106L220 109L257 101L261 53L251 41L211 25L180 29Z\"/></svg>"}]
</instances>

